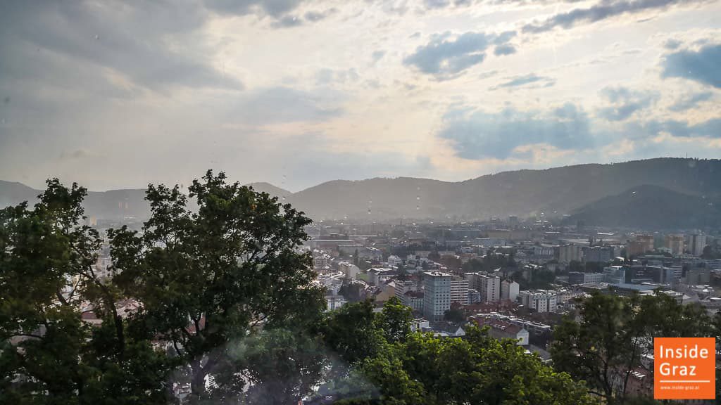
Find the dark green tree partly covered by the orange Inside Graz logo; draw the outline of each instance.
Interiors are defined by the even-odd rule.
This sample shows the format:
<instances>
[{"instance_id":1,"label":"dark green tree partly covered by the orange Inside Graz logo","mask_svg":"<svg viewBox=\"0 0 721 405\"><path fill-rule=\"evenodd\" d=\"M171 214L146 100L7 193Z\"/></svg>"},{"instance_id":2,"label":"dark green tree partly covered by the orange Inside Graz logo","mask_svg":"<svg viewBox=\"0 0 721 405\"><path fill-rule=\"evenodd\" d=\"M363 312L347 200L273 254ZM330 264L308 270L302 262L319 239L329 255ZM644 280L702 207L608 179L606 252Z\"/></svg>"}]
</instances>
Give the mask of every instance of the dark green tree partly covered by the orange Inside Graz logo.
<instances>
[{"instance_id":1,"label":"dark green tree partly covered by the orange Inside Graz logo","mask_svg":"<svg viewBox=\"0 0 721 405\"><path fill-rule=\"evenodd\" d=\"M618 297L593 293L580 308L581 321L570 318L554 329L551 353L558 370L586 380L591 392L608 403L630 400L629 379L653 354L653 337L715 336L704 308L681 305L664 293Z\"/></svg>"}]
</instances>

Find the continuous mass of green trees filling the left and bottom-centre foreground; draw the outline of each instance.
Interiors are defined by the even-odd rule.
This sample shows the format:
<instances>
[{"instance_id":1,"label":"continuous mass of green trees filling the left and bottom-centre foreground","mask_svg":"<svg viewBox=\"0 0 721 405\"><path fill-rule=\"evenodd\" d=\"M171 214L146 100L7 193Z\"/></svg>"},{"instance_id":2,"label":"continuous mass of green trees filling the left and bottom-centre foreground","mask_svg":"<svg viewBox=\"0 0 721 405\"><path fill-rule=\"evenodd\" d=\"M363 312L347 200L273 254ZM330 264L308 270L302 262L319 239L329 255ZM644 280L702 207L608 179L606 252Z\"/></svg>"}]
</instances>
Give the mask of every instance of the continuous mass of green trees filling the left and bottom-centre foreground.
<instances>
[{"instance_id":1,"label":"continuous mass of green trees filling the left and bottom-centre foreground","mask_svg":"<svg viewBox=\"0 0 721 405\"><path fill-rule=\"evenodd\" d=\"M396 298L323 311L303 213L224 174L189 191L197 209L149 187L142 230L107 233L107 274L81 187L51 180L33 208L0 210L0 403L591 401L515 342L411 333Z\"/></svg>"}]
</instances>

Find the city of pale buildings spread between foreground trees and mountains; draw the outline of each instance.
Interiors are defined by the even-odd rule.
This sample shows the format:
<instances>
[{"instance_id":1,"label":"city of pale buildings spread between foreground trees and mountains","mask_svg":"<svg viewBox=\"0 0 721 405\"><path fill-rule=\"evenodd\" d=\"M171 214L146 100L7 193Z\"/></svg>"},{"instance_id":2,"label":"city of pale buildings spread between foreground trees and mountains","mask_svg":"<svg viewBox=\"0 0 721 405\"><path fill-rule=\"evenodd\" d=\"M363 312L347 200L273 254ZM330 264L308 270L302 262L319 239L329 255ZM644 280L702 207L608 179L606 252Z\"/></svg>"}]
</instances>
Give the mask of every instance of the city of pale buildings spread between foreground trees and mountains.
<instances>
[{"instance_id":1,"label":"city of pale buildings spread between foreground trees and mountains","mask_svg":"<svg viewBox=\"0 0 721 405\"><path fill-rule=\"evenodd\" d=\"M704 257L719 238L700 231L629 232L510 217L472 224L325 222L309 233L306 249L329 311L366 299L380 311L396 297L412 309L414 330L458 337L466 324L477 324L548 361L554 326L593 291L660 292L709 313L721 308L721 259Z\"/></svg>"}]
</instances>

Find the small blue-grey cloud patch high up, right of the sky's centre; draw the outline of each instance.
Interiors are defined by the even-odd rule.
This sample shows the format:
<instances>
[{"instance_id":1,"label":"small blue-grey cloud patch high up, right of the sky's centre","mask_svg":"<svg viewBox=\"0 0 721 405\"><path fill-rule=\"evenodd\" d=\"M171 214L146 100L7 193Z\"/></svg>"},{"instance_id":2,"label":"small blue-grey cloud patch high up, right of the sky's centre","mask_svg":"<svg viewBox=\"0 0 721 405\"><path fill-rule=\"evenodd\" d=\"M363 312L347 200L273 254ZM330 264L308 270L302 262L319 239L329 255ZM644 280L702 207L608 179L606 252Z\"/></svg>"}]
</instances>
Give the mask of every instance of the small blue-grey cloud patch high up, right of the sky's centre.
<instances>
[{"instance_id":1,"label":"small blue-grey cloud patch high up, right of the sky's centre","mask_svg":"<svg viewBox=\"0 0 721 405\"><path fill-rule=\"evenodd\" d=\"M454 79L466 69L482 63L490 45L503 45L513 35L510 32L501 35L466 32L454 39L449 39L450 32L434 35L427 45L419 46L415 53L404 58L403 63L433 75L437 80Z\"/></svg>"}]
</instances>

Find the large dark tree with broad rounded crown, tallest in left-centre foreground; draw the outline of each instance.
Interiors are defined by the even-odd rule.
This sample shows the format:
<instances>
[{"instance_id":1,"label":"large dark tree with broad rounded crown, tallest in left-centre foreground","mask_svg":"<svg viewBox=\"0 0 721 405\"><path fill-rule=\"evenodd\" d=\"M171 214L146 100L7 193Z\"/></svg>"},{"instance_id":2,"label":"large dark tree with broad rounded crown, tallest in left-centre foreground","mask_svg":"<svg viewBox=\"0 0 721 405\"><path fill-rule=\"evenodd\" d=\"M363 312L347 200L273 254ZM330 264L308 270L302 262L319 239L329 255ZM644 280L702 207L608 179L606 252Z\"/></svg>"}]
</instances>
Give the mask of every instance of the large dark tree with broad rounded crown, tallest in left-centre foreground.
<instances>
[{"instance_id":1,"label":"large dark tree with broad rounded crown, tallest in left-centre foreground","mask_svg":"<svg viewBox=\"0 0 721 405\"><path fill-rule=\"evenodd\" d=\"M324 307L311 281L311 257L296 249L311 221L277 197L208 171L188 190L149 185L151 218L141 232L109 231L115 282L143 303L146 324L187 365L191 400L212 392L205 379L228 356L229 343L258 326L301 329ZM217 370L216 370L217 369ZM247 370L235 370L247 373ZM217 378L216 384L231 379Z\"/></svg>"}]
</instances>

